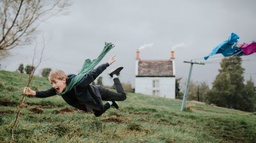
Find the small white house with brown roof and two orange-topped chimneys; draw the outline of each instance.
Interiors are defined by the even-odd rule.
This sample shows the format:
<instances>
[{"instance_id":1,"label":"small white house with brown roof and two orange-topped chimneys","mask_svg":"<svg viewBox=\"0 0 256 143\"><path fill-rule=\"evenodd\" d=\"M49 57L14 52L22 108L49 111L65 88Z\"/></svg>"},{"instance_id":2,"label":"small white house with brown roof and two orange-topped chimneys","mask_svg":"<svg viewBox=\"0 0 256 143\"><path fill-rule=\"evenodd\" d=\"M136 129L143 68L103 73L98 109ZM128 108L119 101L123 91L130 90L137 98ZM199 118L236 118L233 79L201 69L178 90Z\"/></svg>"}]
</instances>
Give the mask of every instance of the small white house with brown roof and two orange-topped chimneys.
<instances>
[{"instance_id":1,"label":"small white house with brown roof and two orange-topped chimneys","mask_svg":"<svg viewBox=\"0 0 256 143\"><path fill-rule=\"evenodd\" d=\"M136 54L135 93L175 99L175 60L174 52L170 59L140 59Z\"/></svg>"}]
</instances>

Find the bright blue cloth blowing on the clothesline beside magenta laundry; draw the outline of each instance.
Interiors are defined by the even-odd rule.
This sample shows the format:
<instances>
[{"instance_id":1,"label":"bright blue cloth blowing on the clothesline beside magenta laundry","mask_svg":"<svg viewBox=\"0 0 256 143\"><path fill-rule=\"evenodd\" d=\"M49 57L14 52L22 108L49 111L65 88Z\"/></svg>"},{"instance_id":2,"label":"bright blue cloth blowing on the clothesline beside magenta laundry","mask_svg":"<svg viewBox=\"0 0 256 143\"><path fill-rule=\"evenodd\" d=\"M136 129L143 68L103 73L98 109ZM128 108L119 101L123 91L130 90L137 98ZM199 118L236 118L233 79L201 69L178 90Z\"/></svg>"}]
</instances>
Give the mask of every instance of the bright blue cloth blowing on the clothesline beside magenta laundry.
<instances>
[{"instance_id":1,"label":"bright blue cloth blowing on the clothesline beside magenta laundry","mask_svg":"<svg viewBox=\"0 0 256 143\"><path fill-rule=\"evenodd\" d=\"M223 41L216 46L208 56L204 57L204 59L207 60L210 56L215 54L222 54L224 57L232 56L237 52L237 50L239 50L239 48L236 46L238 39L239 36L237 34L231 33L228 40Z\"/></svg>"}]
</instances>

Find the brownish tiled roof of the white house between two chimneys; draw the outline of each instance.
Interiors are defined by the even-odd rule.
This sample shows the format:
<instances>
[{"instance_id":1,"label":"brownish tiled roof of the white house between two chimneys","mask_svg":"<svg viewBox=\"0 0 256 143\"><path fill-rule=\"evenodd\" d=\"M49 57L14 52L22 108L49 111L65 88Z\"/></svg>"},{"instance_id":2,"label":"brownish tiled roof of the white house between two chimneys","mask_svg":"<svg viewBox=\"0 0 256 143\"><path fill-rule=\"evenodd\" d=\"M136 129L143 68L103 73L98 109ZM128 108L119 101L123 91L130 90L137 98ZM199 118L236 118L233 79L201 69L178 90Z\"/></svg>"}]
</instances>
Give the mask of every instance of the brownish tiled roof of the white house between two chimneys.
<instances>
[{"instance_id":1,"label":"brownish tiled roof of the white house between two chimneys","mask_svg":"<svg viewBox=\"0 0 256 143\"><path fill-rule=\"evenodd\" d=\"M170 59L140 60L136 77L174 77Z\"/></svg>"}]
</instances>

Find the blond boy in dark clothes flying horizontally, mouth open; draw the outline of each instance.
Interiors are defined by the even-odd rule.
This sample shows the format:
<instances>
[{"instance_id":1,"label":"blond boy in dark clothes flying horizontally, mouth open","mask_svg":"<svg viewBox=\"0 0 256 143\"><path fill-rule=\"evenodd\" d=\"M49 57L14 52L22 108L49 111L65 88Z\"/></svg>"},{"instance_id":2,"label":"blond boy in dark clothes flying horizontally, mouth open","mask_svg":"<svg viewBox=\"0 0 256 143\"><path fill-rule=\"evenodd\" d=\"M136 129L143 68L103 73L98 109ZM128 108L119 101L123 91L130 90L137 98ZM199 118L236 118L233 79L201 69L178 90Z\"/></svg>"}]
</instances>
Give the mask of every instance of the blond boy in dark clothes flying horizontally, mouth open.
<instances>
[{"instance_id":1,"label":"blond boy in dark clothes flying horizontally, mouth open","mask_svg":"<svg viewBox=\"0 0 256 143\"><path fill-rule=\"evenodd\" d=\"M116 91L109 91L101 86L90 85L100 73L102 73L109 65L116 61L115 56L112 57L108 63L101 64L92 72L86 74L81 81L79 81L70 91L65 94L61 94L62 98L69 105L84 110L86 112L93 111L95 116L101 116L110 106L118 109L118 104L115 101L124 101L126 94L118 79L118 75L123 67L116 68L113 72L109 73L109 76L113 78ZM66 75L61 70L51 72L49 74L49 81L52 84L52 88L47 91L33 91L29 87L24 88L24 94L33 95L38 98L46 98L54 96L57 93L63 93L65 88L76 75ZM108 101L106 104L102 104L102 100Z\"/></svg>"}]
</instances>

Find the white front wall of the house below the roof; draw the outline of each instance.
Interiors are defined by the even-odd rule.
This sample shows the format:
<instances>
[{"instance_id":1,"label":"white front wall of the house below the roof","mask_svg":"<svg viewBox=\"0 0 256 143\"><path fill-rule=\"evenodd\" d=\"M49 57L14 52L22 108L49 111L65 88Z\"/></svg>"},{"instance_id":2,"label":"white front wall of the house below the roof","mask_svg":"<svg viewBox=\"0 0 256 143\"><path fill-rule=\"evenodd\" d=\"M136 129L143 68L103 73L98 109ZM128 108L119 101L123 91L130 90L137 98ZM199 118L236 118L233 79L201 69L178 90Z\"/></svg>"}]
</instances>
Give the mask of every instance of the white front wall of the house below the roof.
<instances>
[{"instance_id":1,"label":"white front wall of the house below the roof","mask_svg":"<svg viewBox=\"0 0 256 143\"><path fill-rule=\"evenodd\" d=\"M152 95L153 80L159 80L159 96L175 99L175 77L136 77L135 93Z\"/></svg>"}]
</instances>

